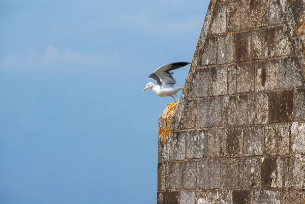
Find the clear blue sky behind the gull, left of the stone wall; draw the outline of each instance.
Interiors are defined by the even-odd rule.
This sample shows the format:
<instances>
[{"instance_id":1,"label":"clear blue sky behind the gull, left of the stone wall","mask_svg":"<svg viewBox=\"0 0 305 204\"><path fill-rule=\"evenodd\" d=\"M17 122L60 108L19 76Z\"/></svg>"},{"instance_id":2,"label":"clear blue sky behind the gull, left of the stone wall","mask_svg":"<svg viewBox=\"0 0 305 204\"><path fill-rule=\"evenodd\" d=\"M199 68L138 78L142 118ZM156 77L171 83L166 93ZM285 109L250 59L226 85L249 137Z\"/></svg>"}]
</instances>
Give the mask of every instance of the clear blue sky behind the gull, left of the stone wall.
<instances>
[{"instance_id":1,"label":"clear blue sky behind the gull, left of the stone wall","mask_svg":"<svg viewBox=\"0 0 305 204\"><path fill-rule=\"evenodd\" d=\"M172 98L143 89L192 60L208 3L1 1L0 203L156 203Z\"/></svg>"}]
</instances>

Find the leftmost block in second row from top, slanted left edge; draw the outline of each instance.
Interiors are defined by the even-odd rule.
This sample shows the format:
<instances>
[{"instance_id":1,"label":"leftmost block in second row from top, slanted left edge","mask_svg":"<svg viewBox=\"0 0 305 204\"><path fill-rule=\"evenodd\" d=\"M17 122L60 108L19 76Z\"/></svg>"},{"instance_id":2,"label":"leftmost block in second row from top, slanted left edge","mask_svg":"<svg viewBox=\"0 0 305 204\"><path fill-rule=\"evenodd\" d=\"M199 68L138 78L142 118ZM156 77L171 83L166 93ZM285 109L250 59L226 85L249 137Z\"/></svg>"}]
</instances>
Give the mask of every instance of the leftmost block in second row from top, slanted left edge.
<instances>
[{"instance_id":1,"label":"leftmost block in second row from top, slanted left edge","mask_svg":"<svg viewBox=\"0 0 305 204\"><path fill-rule=\"evenodd\" d=\"M216 65L218 56L217 39L218 38L215 36L206 38L204 50L201 57L201 66Z\"/></svg>"}]
</instances>

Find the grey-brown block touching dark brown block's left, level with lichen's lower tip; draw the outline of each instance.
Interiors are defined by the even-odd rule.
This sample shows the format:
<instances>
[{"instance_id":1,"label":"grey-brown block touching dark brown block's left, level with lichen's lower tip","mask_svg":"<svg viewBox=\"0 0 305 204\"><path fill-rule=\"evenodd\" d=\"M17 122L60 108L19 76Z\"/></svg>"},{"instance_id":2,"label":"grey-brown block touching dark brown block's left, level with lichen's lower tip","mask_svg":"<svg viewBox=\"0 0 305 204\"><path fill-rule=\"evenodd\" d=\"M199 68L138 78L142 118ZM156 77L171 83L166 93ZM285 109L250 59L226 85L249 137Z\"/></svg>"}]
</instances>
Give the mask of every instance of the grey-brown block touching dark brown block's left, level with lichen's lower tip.
<instances>
[{"instance_id":1,"label":"grey-brown block touching dark brown block's left, level with lichen's lower tip","mask_svg":"<svg viewBox=\"0 0 305 204\"><path fill-rule=\"evenodd\" d=\"M207 157L217 158L224 155L224 130L222 128L211 128L202 132L207 141Z\"/></svg>"}]
</instances>

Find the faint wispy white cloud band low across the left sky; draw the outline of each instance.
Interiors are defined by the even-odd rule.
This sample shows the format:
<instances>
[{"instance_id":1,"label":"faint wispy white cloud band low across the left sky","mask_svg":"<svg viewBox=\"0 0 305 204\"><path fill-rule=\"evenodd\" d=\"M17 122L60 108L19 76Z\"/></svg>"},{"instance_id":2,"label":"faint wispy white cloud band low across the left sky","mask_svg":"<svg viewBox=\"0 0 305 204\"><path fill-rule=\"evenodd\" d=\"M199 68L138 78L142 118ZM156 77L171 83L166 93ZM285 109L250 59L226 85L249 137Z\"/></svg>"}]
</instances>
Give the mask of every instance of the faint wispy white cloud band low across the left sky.
<instances>
[{"instance_id":1,"label":"faint wispy white cloud band low across the left sky","mask_svg":"<svg viewBox=\"0 0 305 204\"><path fill-rule=\"evenodd\" d=\"M92 55L49 45L43 52L27 49L25 53L6 55L0 60L0 69L89 69L115 64L120 57L120 52Z\"/></svg>"}]
</instances>

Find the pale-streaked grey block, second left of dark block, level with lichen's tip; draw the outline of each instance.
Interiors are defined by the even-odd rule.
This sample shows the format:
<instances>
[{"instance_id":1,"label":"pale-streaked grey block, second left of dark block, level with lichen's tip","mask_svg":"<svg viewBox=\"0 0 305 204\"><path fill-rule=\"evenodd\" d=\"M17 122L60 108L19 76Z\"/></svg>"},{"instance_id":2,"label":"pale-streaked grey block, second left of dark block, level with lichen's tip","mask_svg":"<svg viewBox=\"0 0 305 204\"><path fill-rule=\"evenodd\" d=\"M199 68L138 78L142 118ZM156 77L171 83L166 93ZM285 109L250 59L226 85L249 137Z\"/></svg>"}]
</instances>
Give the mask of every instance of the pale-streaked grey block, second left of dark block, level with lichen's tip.
<instances>
[{"instance_id":1,"label":"pale-streaked grey block, second left of dark block, level with lichen's tip","mask_svg":"<svg viewBox=\"0 0 305 204\"><path fill-rule=\"evenodd\" d=\"M206 131L188 131L186 136L186 158L206 158L207 155L207 138Z\"/></svg>"}]
</instances>

